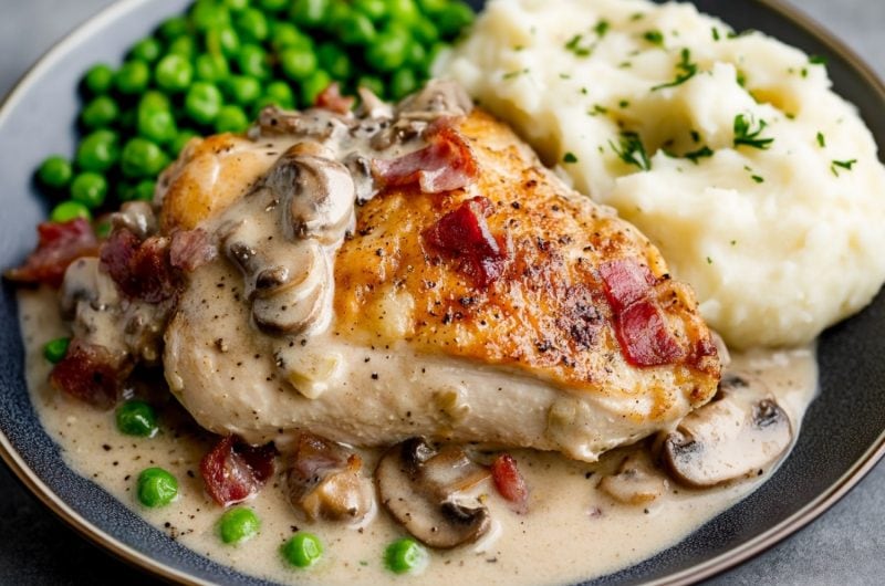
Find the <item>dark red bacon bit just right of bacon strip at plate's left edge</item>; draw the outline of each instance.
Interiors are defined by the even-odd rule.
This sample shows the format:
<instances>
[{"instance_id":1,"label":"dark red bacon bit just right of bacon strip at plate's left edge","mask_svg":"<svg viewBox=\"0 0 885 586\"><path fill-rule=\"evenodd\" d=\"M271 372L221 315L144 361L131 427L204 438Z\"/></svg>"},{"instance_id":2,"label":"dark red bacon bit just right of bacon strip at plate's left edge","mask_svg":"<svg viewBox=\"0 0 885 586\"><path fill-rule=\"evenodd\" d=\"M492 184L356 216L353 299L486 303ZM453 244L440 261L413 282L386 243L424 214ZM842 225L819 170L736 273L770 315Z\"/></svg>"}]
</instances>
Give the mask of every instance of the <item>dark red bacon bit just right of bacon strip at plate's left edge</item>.
<instances>
[{"instance_id":1,"label":"dark red bacon bit just right of bacon strip at plate's left edge","mask_svg":"<svg viewBox=\"0 0 885 586\"><path fill-rule=\"evenodd\" d=\"M171 297L176 274L169 260L169 242L150 237L144 242L126 228L114 230L101 250L102 268L129 297L159 303Z\"/></svg>"}]
</instances>

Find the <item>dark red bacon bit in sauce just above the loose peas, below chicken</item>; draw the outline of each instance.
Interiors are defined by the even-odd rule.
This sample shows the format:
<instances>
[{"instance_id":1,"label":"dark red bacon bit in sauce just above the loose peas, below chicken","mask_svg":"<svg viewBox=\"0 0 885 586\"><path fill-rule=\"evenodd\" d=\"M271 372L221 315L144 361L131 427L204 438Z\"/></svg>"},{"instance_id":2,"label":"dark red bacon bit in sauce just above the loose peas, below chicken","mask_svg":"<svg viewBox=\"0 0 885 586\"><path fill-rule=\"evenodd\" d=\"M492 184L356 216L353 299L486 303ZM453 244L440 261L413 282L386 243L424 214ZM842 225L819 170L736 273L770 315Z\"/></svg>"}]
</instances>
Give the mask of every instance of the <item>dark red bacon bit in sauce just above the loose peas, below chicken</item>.
<instances>
[{"instance_id":1,"label":"dark red bacon bit in sauce just above the loose peas, below chicken","mask_svg":"<svg viewBox=\"0 0 885 586\"><path fill-rule=\"evenodd\" d=\"M206 492L221 506L241 503L273 475L275 456L271 443L254 448L235 436L221 438L200 462Z\"/></svg>"}]
</instances>

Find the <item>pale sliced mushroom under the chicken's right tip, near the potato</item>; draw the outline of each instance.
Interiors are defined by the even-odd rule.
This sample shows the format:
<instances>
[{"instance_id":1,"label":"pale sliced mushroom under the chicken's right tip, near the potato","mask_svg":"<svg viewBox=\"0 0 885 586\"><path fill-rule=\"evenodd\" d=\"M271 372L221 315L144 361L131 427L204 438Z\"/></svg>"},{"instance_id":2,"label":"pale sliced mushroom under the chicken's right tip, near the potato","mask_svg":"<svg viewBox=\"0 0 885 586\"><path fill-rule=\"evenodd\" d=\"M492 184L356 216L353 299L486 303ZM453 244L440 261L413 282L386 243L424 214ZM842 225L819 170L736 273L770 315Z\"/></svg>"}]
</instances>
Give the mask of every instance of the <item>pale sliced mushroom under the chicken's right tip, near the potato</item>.
<instances>
[{"instance_id":1,"label":"pale sliced mushroom under the chicken's right tip, near the potato","mask_svg":"<svg viewBox=\"0 0 885 586\"><path fill-rule=\"evenodd\" d=\"M667 435L663 460L680 484L715 486L761 473L792 437L790 418L762 381L730 375L711 402Z\"/></svg>"}]
</instances>

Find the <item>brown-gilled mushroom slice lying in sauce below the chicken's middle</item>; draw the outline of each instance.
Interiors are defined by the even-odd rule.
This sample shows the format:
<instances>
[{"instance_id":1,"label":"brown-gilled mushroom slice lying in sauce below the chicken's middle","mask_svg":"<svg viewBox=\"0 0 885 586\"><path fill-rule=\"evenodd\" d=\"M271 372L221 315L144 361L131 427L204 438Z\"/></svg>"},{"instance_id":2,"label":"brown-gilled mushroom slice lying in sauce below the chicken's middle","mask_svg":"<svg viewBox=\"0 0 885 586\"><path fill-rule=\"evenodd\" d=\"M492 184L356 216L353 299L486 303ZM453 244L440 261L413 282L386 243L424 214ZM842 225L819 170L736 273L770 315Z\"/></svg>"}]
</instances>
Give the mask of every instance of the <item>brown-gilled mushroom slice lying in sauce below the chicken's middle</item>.
<instances>
[{"instance_id":1,"label":"brown-gilled mushroom slice lying in sauce below the chicken's middle","mask_svg":"<svg viewBox=\"0 0 885 586\"><path fill-rule=\"evenodd\" d=\"M489 530L488 509L459 494L488 477L460 448L437 452L420 438L391 448L375 470L385 509L415 538L439 548L475 542Z\"/></svg>"}]
</instances>

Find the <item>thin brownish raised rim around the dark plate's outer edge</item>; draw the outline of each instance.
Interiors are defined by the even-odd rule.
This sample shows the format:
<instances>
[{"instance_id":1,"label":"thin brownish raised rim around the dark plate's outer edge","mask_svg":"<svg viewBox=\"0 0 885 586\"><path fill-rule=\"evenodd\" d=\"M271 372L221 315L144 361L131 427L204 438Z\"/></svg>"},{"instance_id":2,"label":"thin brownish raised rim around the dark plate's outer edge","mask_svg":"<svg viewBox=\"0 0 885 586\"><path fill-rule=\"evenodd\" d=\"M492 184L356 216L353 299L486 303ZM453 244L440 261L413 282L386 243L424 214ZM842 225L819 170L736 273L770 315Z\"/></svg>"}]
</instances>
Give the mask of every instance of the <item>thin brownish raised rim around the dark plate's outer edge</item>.
<instances>
[{"instance_id":1,"label":"thin brownish raised rim around the dark plate's outer edge","mask_svg":"<svg viewBox=\"0 0 885 586\"><path fill-rule=\"evenodd\" d=\"M691 0L679 0L691 2ZM823 27L812 17L808 15L801 8L791 4L788 0L749 0L754 4L760 4L780 17L783 17L800 30L810 33L813 38L825 45L833 54L845 61L855 73L857 73L865 85L874 91L885 103L885 81L875 73L870 64L837 38L834 33ZM76 24L61 39L53 43L43 54L15 81L9 93L0 100L0 125L10 116L12 106L18 104L30 85L50 69L52 64L61 59L69 49L88 38L93 32L103 28L108 20L124 17L135 8L149 2L149 0L119 0L100 10L95 14L86 18ZM882 148L885 148L883 146ZM835 482L822 491L815 499L805 506L784 519L780 523L769 527L764 532L753 536L746 543L731 548L725 553L712 557L701 564L664 576L647 584L653 586L676 586L695 584L702 579L710 578L727 569L730 569L749 558L761 554L773 547L790 535L799 532L812 521L830 510L836 502L842 500L854 486L856 486L866 474L885 457L885 429L870 444L870 448L860 457L852 467L842 474ZM0 460L2 460L13 477L37 498L50 512L73 529L81 537L100 547L101 550L114 555L117 559L127 563L131 567L142 572L148 572L156 577L174 582L185 586L211 586L215 583L208 579L194 576L162 562L126 545L105 531L97 527L94 523L74 511L56 493L54 493L40 477L24 462L24 459L12 446L6 432L0 429ZM198 554L199 555L199 554ZM218 563L212 561L214 563ZM602 577L602 576L601 576Z\"/></svg>"}]
</instances>

